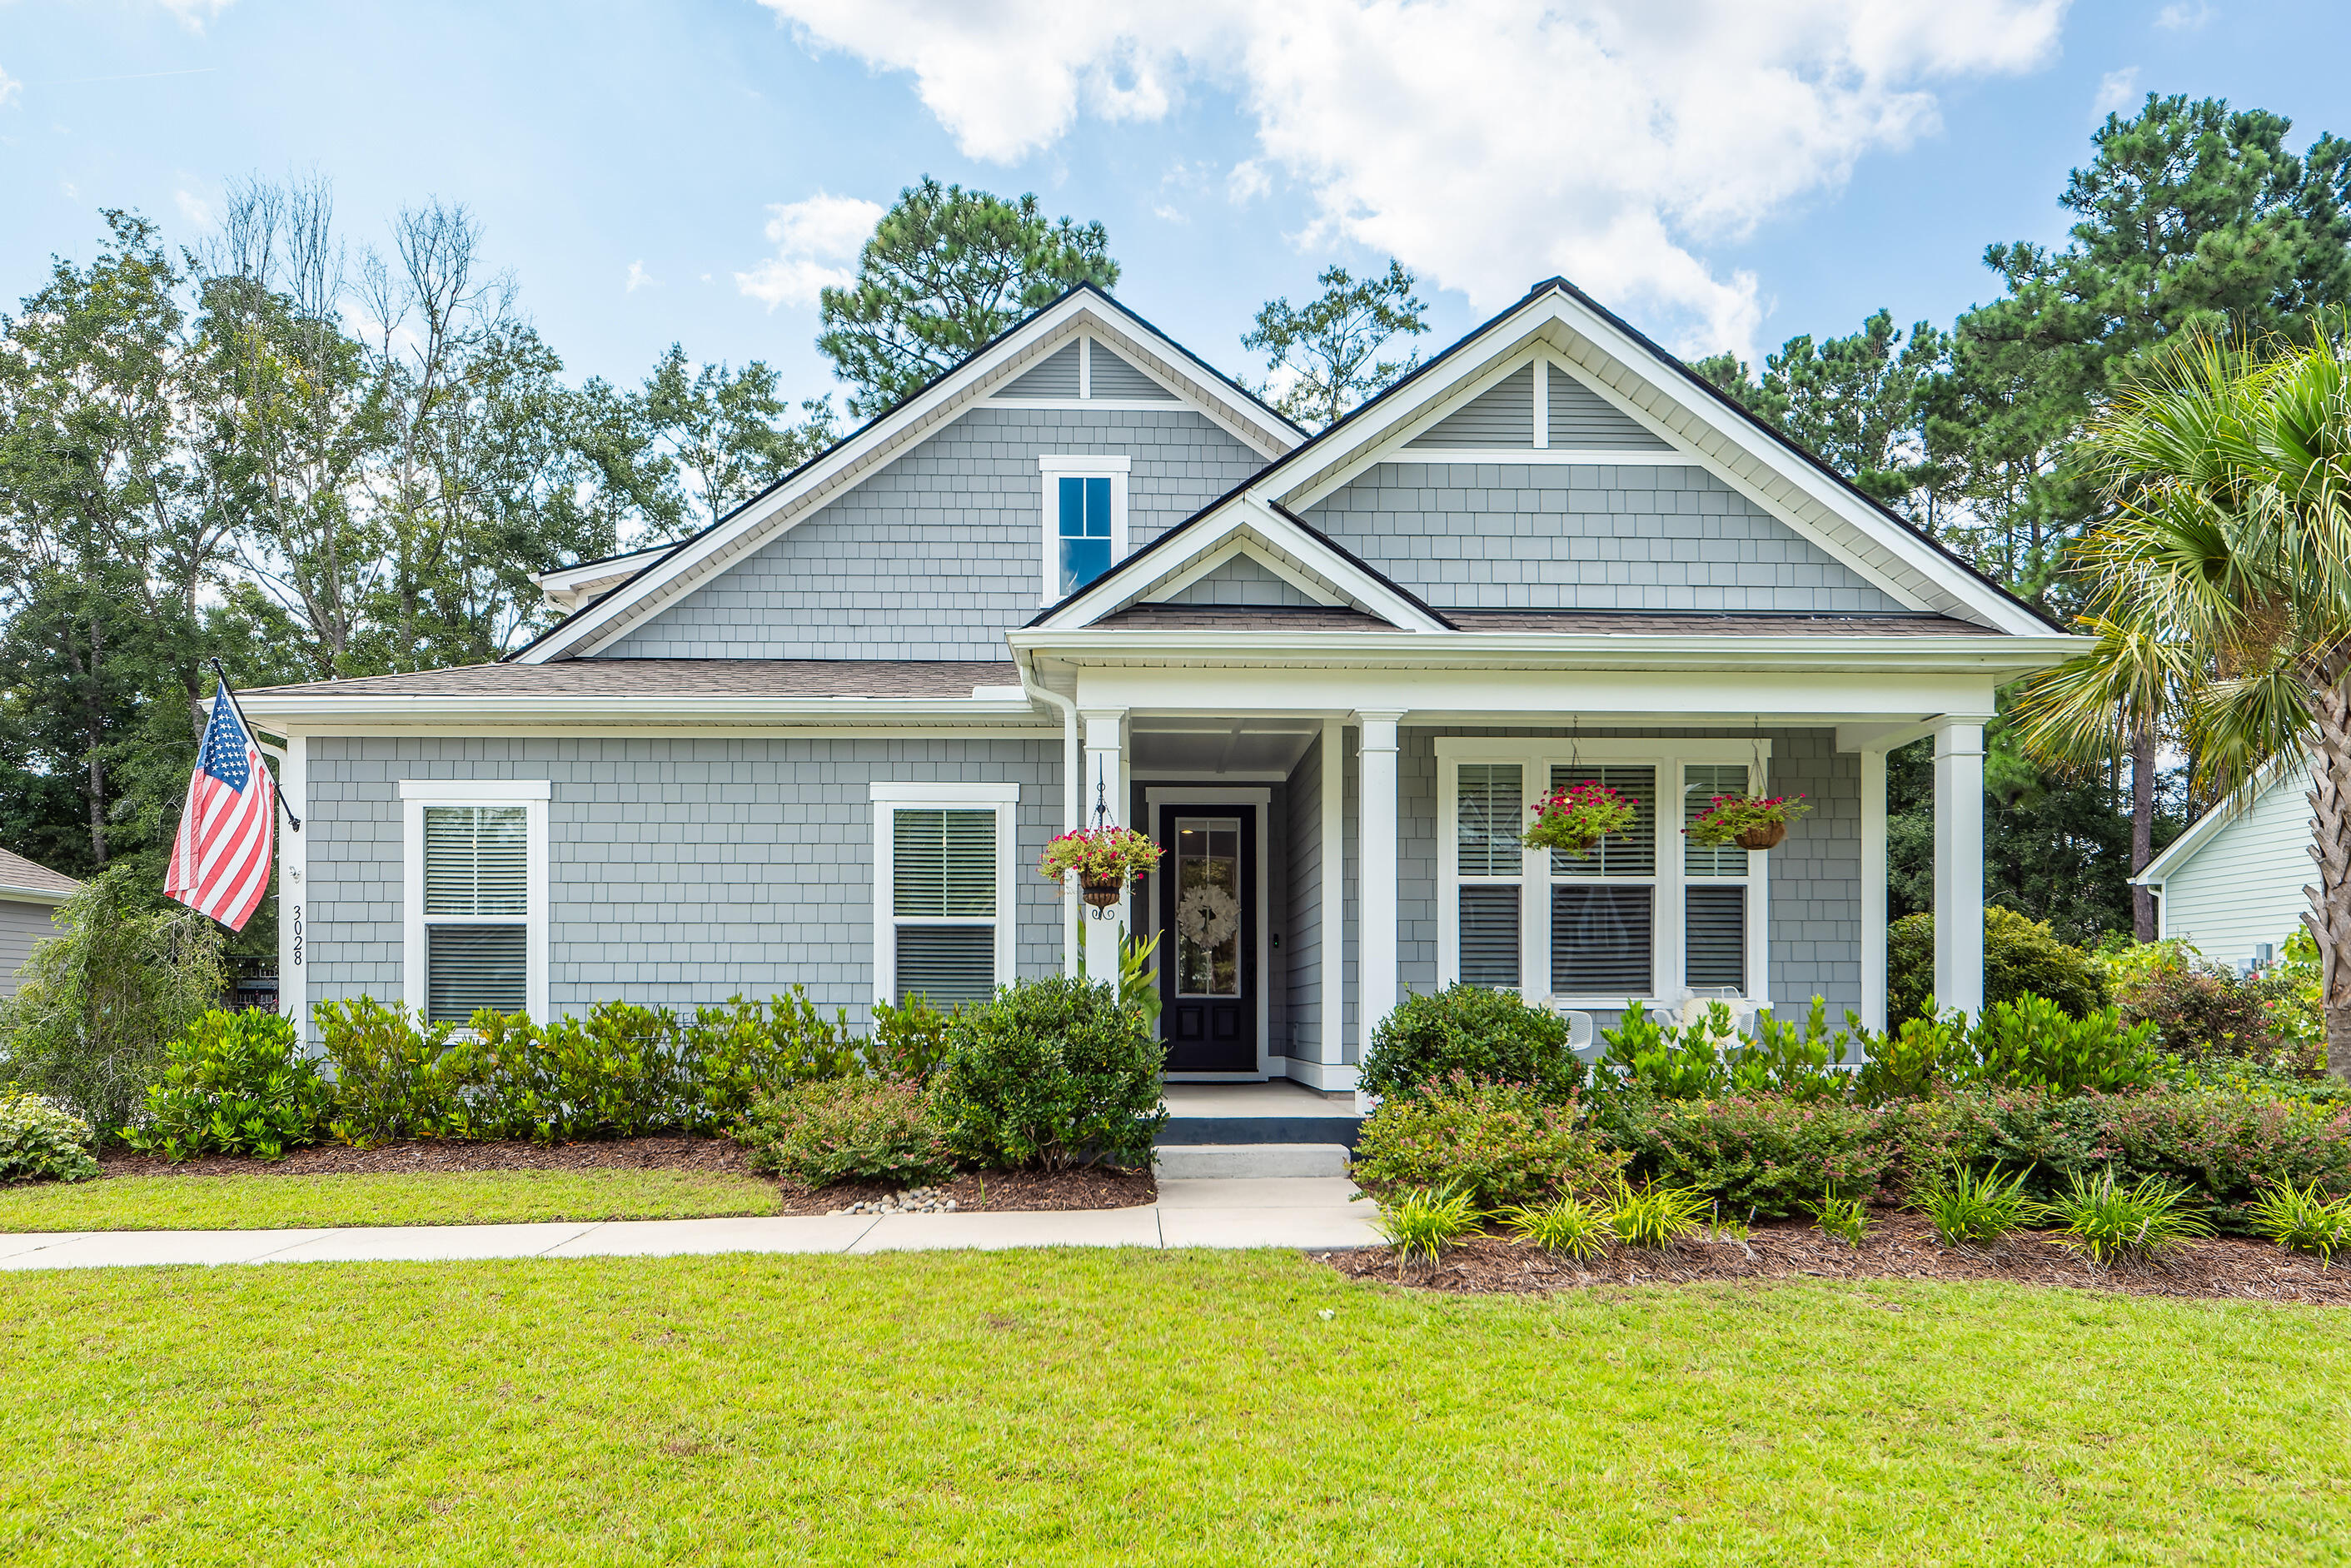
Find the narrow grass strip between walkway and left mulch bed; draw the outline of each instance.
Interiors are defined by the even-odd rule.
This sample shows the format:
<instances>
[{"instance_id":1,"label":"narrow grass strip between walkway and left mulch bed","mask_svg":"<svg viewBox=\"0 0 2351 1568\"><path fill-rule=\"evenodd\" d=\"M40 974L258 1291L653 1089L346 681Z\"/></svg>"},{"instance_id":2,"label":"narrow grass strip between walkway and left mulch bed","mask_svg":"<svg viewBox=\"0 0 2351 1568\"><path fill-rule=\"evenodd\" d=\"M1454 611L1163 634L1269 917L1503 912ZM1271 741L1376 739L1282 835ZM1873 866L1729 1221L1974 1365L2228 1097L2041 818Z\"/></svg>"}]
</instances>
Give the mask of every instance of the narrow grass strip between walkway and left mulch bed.
<instances>
[{"instance_id":1,"label":"narrow grass strip between walkway and left mulch bed","mask_svg":"<svg viewBox=\"0 0 2351 1568\"><path fill-rule=\"evenodd\" d=\"M0 1187L0 1232L694 1220L776 1206L773 1182L712 1171L120 1175Z\"/></svg>"}]
</instances>

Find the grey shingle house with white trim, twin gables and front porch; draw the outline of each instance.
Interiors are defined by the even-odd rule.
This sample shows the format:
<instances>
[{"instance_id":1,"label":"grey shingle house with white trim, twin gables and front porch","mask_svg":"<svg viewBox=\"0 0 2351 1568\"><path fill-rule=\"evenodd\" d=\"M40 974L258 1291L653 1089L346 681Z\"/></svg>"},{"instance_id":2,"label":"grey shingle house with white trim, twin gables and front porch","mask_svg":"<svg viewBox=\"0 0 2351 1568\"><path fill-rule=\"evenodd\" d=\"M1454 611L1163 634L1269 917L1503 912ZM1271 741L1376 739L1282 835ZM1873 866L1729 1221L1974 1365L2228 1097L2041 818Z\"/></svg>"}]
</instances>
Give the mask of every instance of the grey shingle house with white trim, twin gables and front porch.
<instances>
[{"instance_id":1,"label":"grey shingle house with white trim, twin gables and front porch","mask_svg":"<svg viewBox=\"0 0 2351 1568\"><path fill-rule=\"evenodd\" d=\"M1081 287L715 527L550 571L503 663L245 696L284 1006L983 997L1161 933L1171 1077L1345 1088L1408 990L1881 1018L1886 752L1935 738L1982 990L1982 726L2078 646L1563 280L1317 437ZM1603 778L1582 860L1528 806ZM1768 853L1681 844L1803 792ZM1138 825L1107 917L1037 875Z\"/></svg>"}]
</instances>

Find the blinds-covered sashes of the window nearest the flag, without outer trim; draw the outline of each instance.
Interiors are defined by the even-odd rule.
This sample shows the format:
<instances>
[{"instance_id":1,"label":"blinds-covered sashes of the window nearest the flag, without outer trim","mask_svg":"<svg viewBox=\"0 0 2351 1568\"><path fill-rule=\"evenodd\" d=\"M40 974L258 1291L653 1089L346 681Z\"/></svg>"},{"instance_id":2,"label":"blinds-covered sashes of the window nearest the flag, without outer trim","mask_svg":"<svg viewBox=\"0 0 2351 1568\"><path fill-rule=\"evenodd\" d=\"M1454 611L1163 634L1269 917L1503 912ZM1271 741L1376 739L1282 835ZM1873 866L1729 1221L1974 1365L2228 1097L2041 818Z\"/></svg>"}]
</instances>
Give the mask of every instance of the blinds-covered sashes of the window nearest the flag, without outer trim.
<instances>
[{"instance_id":1,"label":"blinds-covered sashes of the window nearest the flag, without outer trim","mask_svg":"<svg viewBox=\"0 0 2351 1568\"><path fill-rule=\"evenodd\" d=\"M426 1018L529 1006L529 809L426 806Z\"/></svg>"}]
</instances>

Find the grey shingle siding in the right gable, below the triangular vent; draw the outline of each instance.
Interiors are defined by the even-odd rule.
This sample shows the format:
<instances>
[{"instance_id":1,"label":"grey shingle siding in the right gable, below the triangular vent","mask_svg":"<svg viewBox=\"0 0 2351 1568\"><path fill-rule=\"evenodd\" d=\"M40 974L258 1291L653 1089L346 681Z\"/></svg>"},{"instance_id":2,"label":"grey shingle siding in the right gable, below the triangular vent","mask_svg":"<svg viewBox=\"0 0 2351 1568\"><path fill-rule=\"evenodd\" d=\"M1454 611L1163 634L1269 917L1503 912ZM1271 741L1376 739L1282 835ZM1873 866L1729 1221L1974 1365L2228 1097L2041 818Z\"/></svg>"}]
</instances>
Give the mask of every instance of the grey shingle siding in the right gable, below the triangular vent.
<instances>
[{"instance_id":1,"label":"grey shingle siding in the right gable, below the triangular vent","mask_svg":"<svg viewBox=\"0 0 2351 1568\"><path fill-rule=\"evenodd\" d=\"M1907 609L1704 468L1378 463L1307 522L1439 607Z\"/></svg>"}]
</instances>

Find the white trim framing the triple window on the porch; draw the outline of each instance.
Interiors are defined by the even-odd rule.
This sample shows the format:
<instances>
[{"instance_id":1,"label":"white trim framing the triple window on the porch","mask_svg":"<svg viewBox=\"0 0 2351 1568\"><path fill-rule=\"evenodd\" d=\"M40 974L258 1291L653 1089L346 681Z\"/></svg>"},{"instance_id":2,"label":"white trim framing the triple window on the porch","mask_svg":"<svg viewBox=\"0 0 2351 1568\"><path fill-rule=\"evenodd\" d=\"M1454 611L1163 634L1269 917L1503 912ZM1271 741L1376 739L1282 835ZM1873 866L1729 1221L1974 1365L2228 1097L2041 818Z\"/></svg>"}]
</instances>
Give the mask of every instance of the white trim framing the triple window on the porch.
<instances>
[{"instance_id":1,"label":"white trim framing the triple window on the porch","mask_svg":"<svg viewBox=\"0 0 2351 1568\"><path fill-rule=\"evenodd\" d=\"M1653 907L1650 987L1655 994L1632 997L1650 1009L1681 1006L1688 994L1683 980L1683 877L1681 856L1681 797L1683 769L1688 766L1747 766L1747 788L1761 790L1759 766L1770 764L1770 741L1754 738L1660 738L1639 741L1603 736L1570 741L1566 736L1540 738L1483 738L1439 736L1436 738L1436 983L1453 985L1460 978L1460 764L1465 762L1516 762L1521 773L1521 806L1531 806L1549 792L1552 769L1570 764L1606 766L1653 766L1660 780L1657 802L1657 903ZM1768 778L1768 773L1766 773ZM1672 795L1672 811L1665 795ZM1528 818L1533 820L1533 818ZM1747 994L1770 1006L1770 853L1751 851L1747 860ZM1491 877L1474 882L1493 884ZM1700 884L1737 884L1737 877L1697 877ZM1552 856L1542 849L1523 851L1519 865L1519 994L1528 999L1549 997L1563 1006L1615 1011L1627 997L1599 997L1552 992ZM1542 896L1528 896L1540 889Z\"/></svg>"}]
</instances>

